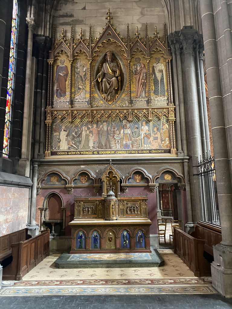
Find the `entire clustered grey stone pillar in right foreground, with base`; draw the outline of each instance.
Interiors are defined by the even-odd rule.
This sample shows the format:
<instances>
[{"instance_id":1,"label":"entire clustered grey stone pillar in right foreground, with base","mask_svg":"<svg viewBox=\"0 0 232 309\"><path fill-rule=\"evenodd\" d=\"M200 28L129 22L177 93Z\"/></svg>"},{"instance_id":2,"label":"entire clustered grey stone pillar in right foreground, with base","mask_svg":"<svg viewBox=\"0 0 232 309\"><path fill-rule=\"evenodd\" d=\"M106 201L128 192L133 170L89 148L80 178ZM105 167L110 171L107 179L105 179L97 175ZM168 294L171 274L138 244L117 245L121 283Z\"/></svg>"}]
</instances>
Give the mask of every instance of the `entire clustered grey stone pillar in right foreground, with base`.
<instances>
[{"instance_id":1,"label":"entire clustered grey stone pillar in right foreground, with base","mask_svg":"<svg viewBox=\"0 0 232 309\"><path fill-rule=\"evenodd\" d=\"M227 1L200 0L222 234L221 243L213 248L212 281L223 296L232 297L232 39L228 6Z\"/></svg>"}]
</instances>

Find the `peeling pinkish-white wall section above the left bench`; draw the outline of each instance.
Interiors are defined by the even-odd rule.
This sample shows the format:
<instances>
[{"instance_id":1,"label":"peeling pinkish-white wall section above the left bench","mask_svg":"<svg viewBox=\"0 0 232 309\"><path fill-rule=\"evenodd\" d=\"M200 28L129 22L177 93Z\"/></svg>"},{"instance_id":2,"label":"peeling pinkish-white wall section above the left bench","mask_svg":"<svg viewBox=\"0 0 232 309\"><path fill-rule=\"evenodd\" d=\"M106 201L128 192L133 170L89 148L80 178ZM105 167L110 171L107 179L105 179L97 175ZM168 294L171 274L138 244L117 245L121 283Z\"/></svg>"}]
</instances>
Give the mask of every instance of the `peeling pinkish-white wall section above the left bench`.
<instances>
[{"instance_id":1,"label":"peeling pinkish-white wall section above the left bench","mask_svg":"<svg viewBox=\"0 0 232 309\"><path fill-rule=\"evenodd\" d=\"M0 236L26 227L28 220L28 188L0 186Z\"/></svg>"}]
</instances>

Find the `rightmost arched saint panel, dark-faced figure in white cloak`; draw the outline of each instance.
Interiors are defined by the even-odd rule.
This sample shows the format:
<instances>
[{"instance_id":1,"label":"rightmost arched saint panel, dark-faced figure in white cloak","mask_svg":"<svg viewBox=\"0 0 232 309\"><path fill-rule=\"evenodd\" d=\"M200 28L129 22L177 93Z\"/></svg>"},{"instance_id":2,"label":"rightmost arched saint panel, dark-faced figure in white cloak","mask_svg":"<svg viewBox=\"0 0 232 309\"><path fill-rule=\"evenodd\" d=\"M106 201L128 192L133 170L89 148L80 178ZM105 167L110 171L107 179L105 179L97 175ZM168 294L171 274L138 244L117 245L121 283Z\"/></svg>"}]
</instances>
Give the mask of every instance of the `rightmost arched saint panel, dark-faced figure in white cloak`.
<instances>
[{"instance_id":1,"label":"rightmost arched saint panel, dark-faced figure in white cloak","mask_svg":"<svg viewBox=\"0 0 232 309\"><path fill-rule=\"evenodd\" d=\"M152 106L168 104L167 69L164 56L154 53L150 60Z\"/></svg>"}]
</instances>

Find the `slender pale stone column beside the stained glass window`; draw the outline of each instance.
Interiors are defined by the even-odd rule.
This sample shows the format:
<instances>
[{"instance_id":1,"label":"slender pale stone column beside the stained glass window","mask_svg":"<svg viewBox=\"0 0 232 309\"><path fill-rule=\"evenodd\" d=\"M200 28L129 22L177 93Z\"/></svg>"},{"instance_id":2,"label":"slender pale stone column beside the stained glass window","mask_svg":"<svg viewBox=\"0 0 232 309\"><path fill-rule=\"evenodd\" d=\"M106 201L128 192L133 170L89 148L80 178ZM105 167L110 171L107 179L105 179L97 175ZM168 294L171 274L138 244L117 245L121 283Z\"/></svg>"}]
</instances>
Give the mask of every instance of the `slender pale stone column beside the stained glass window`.
<instances>
[{"instance_id":1,"label":"slender pale stone column beside the stained glass window","mask_svg":"<svg viewBox=\"0 0 232 309\"><path fill-rule=\"evenodd\" d=\"M32 44L33 32L35 23L33 17L26 18L28 24L28 46L27 46L27 62L26 62L26 77L25 77L25 93L24 93L24 114L23 114L23 132L22 132L22 149L21 159L19 160L19 174L22 176L30 176L30 153L31 141L28 140L28 129L31 121L31 73L32 73Z\"/></svg>"}]
</instances>

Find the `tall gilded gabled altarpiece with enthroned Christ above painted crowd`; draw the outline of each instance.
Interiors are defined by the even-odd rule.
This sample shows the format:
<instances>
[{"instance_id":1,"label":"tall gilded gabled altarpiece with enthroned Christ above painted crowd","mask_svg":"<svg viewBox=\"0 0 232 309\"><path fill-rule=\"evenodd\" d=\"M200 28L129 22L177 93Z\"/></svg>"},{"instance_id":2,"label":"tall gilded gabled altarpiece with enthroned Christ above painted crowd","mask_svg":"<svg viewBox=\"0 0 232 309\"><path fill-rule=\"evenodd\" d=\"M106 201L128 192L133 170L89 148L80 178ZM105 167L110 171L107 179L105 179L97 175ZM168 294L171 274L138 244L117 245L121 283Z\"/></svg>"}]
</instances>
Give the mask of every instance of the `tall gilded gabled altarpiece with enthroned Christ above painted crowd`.
<instances>
[{"instance_id":1,"label":"tall gilded gabled altarpiece with enthroned Christ above painted crowd","mask_svg":"<svg viewBox=\"0 0 232 309\"><path fill-rule=\"evenodd\" d=\"M67 37L49 52L46 157L176 155L171 56L164 34L122 37L111 12L100 36ZM116 189L116 188L115 188Z\"/></svg>"}]
</instances>

